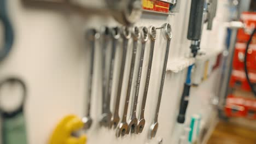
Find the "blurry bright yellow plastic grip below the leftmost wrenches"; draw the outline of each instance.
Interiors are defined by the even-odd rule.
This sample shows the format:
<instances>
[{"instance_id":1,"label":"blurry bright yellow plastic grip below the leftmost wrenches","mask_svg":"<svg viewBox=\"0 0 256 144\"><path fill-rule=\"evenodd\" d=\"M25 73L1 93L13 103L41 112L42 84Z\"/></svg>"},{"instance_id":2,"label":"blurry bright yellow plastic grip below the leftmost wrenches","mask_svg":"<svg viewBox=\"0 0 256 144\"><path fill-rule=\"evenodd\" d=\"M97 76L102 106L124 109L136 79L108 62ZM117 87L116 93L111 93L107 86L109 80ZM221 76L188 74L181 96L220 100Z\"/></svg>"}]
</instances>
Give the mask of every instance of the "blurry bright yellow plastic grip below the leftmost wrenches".
<instances>
[{"instance_id":1,"label":"blurry bright yellow plastic grip below the leftmost wrenches","mask_svg":"<svg viewBox=\"0 0 256 144\"><path fill-rule=\"evenodd\" d=\"M82 120L75 115L64 117L56 126L50 137L49 144L85 144L86 135L72 136L72 132L84 127Z\"/></svg>"}]
</instances>

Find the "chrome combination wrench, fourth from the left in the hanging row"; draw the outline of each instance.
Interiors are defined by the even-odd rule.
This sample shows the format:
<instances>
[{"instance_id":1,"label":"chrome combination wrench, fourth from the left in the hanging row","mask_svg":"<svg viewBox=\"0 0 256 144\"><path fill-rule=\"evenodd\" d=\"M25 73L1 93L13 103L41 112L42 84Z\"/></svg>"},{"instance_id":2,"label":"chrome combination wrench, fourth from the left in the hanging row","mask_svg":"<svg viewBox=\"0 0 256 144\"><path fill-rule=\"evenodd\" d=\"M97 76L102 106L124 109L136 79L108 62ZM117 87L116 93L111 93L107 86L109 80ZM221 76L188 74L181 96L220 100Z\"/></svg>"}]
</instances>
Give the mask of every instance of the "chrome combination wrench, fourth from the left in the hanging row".
<instances>
[{"instance_id":1,"label":"chrome combination wrench, fourth from the left in the hanging row","mask_svg":"<svg viewBox=\"0 0 256 144\"><path fill-rule=\"evenodd\" d=\"M115 98L115 107L114 107L114 114L111 119L111 125L110 127L117 128L117 125L120 121L119 117L119 103L120 103L120 97L121 97L121 90L122 90L122 84L123 84L123 78L124 78L124 69L125 69L125 59L126 59L126 52L127 52L127 46L128 41L131 38L131 32L128 27L122 27L121 29L121 35L123 37L123 57L121 60L121 69L120 69L120 75L119 75L119 81L118 81L118 92L117 97Z\"/></svg>"}]
</instances>

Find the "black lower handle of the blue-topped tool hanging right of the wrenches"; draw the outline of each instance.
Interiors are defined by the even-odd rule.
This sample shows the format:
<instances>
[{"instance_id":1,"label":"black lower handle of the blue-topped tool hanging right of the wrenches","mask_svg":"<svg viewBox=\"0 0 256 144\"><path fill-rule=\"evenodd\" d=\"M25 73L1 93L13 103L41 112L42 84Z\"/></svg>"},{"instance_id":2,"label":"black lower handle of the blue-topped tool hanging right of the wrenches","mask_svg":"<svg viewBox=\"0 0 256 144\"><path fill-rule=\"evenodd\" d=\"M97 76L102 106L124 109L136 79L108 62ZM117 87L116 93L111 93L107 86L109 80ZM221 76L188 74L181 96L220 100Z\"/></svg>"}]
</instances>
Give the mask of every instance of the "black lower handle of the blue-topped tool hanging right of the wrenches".
<instances>
[{"instance_id":1,"label":"black lower handle of the blue-topped tool hanging right of the wrenches","mask_svg":"<svg viewBox=\"0 0 256 144\"><path fill-rule=\"evenodd\" d=\"M188 103L189 103L189 90L190 85L185 83L182 98L181 98L181 104L179 105L179 115L177 118L178 123L184 123L185 122L185 114L187 111Z\"/></svg>"}]
</instances>

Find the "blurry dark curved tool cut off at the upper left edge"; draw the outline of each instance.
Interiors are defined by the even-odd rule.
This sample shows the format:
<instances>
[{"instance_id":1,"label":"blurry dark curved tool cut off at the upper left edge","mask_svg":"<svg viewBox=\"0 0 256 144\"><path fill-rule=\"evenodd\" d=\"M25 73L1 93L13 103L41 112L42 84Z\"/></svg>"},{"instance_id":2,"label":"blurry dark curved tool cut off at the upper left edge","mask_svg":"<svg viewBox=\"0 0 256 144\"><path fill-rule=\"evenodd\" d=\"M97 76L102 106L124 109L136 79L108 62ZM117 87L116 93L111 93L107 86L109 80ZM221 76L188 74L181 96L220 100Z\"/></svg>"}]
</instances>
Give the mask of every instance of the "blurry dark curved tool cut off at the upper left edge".
<instances>
[{"instance_id":1,"label":"blurry dark curved tool cut off at the upper left edge","mask_svg":"<svg viewBox=\"0 0 256 144\"><path fill-rule=\"evenodd\" d=\"M0 21L4 28L4 46L1 46L0 61L8 55L14 42L14 31L7 13L7 0L0 0Z\"/></svg>"}]
</instances>

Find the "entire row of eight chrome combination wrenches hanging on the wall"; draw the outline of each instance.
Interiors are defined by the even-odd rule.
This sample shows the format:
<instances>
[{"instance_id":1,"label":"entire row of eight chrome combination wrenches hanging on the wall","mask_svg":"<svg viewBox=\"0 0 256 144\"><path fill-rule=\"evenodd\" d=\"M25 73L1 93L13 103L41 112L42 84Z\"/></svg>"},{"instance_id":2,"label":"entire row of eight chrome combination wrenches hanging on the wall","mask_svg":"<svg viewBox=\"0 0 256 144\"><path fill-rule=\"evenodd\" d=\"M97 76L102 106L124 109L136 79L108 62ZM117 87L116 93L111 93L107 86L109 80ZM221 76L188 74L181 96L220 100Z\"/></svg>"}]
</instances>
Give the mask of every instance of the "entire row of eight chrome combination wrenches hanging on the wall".
<instances>
[{"instance_id":1,"label":"entire row of eight chrome combination wrenches hanging on the wall","mask_svg":"<svg viewBox=\"0 0 256 144\"><path fill-rule=\"evenodd\" d=\"M165 23L160 27L162 29L162 32L164 32L165 37L167 39L167 45L166 45L166 51L165 51L165 58L164 58L164 67L162 69L162 76L161 76L161 85L159 89L159 95L158 95L158 102L156 105L155 110L155 116L153 124L150 126L149 131L149 138L155 136L156 131L158 129L158 113L160 108L160 101L161 101L161 95L162 95L162 89L164 87L164 80L165 80L165 71L166 71L166 65L167 65L167 59L168 59L168 51L170 48L170 41L172 38L171 34L171 25L168 23ZM88 40L90 41L91 45L91 67L90 67L90 78L89 78L89 91L88 91L88 111L86 116L83 118L83 122L85 124L85 129L89 129L92 124L92 119L90 116L90 107L91 107L91 84L92 84L92 75L94 74L94 56L95 56L95 45L96 40L100 39L102 37L102 116L100 125L102 127L107 128L114 128L117 129L116 136L124 136L129 133L142 133L144 129L144 125L146 123L144 119L144 110L146 106L146 100L148 95L148 87L149 87L149 80L150 80L150 73L152 69L152 61L153 61L153 54L154 54L154 45L156 40L156 28L153 26L147 27L103 27L102 32L99 33L96 31L96 29L90 29L88 31ZM112 86L113 86L113 73L114 73L114 62L115 62L115 53L117 49L117 45L119 43L119 39L123 39L123 53L121 58L121 67L120 67L120 74L119 74L119 80L118 80L118 90L117 90L117 96L114 99L114 110L113 113L110 111L110 98L112 93ZM127 47L129 43L129 39L133 40L133 47L132 47L132 57L131 57L131 64L130 64L130 71L129 71L129 80L127 85L127 92L125 95L125 106L123 110L123 117L119 117L119 105L120 105L120 98L121 98L121 91L122 88L124 88L123 85L123 79L124 79L124 70L125 70L125 63L126 62L126 53L127 53ZM146 75L146 85L144 87L144 93L142 98L142 105L141 105L141 111L139 113L139 117L136 116L136 110L137 110L137 101L138 101L138 95L139 95L139 86L141 83L141 76L142 76L142 67L143 67L143 61L144 61L144 51L146 47L146 43L148 39L151 40L150 43L150 52L149 52L149 59L148 59L148 68L147 68L147 75ZM131 113L130 118L127 121L127 111L130 101L130 95L131 95L131 87L132 87L132 80L133 80L133 72L135 70L135 60L136 60L136 53L137 53L137 46L138 41L141 41L141 55L139 56L139 65L138 65L138 71L137 71L137 80L136 80L136 86L135 86L135 95L132 97L132 104L131 104ZM106 70L106 51L107 51L107 43L109 41L112 41L111 46L111 52L110 52L110 59L109 59L109 73L107 73ZM107 75L108 74L108 75Z\"/></svg>"}]
</instances>

